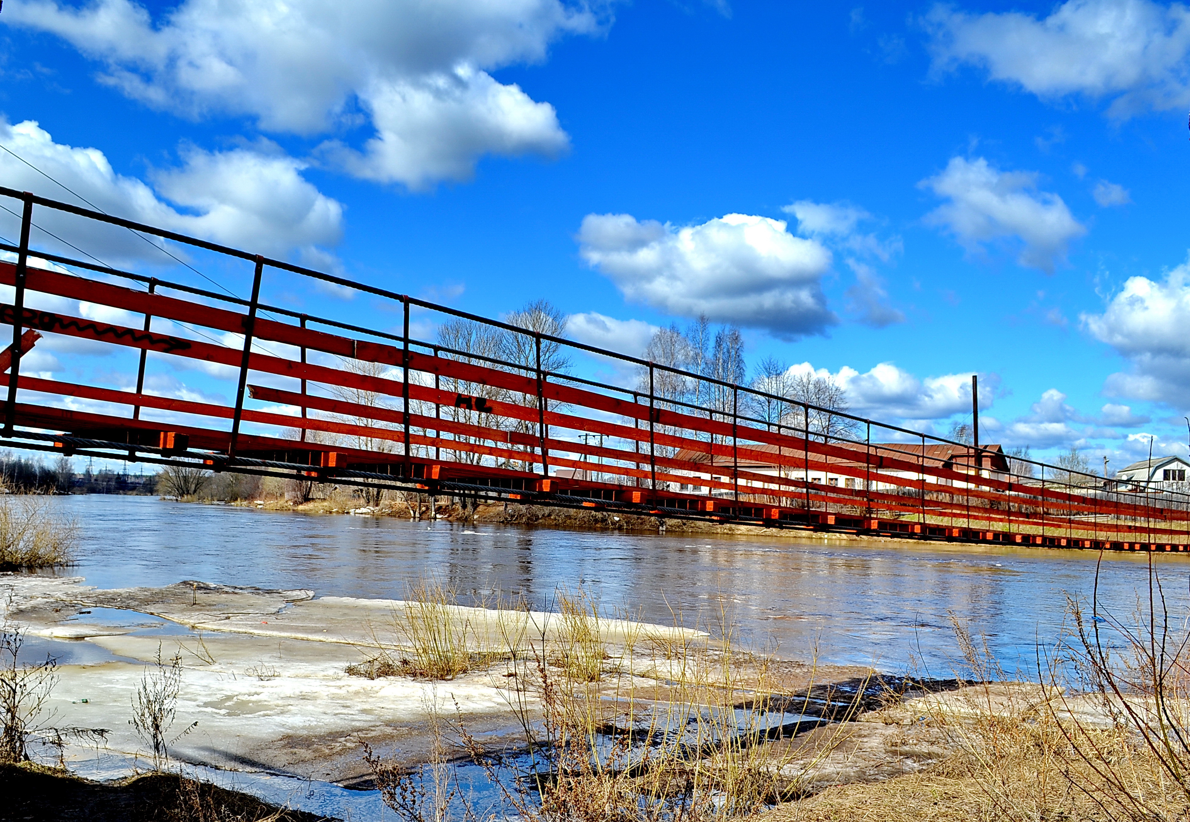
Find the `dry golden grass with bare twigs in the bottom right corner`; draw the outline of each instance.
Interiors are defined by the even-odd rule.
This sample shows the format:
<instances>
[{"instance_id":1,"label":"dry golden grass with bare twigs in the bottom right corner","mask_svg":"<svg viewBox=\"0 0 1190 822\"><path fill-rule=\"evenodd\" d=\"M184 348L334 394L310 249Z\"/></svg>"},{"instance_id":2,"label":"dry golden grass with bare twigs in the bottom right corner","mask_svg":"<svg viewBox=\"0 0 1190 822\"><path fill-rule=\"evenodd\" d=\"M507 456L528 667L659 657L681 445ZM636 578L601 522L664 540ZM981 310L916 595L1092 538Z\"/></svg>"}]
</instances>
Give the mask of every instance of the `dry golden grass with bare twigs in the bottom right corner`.
<instances>
[{"instance_id":1,"label":"dry golden grass with bare twigs in the bottom right corner","mask_svg":"<svg viewBox=\"0 0 1190 822\"><path fill-rule=\"evenodd\" d=\"M1070 634L1039 653L1044 685L987 682L1003 672L956 625L984 684L900 709L939 730L951 754L927 772L832 786L766 818L1190 820L1190 638L1180 620L1171 625L1159 581L1128 623L1094 604L1084 613L1072 602L1070 613Z\"/></svg>"}]
</instances>

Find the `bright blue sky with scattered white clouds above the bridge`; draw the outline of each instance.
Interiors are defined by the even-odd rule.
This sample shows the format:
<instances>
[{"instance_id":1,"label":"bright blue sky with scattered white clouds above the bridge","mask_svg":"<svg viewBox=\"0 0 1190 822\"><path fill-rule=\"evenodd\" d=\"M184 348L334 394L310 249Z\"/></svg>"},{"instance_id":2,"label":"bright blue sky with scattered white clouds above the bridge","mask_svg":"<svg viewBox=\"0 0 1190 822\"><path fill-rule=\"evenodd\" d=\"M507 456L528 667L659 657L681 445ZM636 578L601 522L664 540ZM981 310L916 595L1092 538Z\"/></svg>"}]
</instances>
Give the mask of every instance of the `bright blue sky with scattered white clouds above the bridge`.
<instances>
[{"instance_id":1,"label":"bright blue sky with scattered white clouds above the bridge","mask_svg":"<svg viewBox=\"0 0 1190 822\"><path fill-rule=\"evenodd\" d=\"M753 365L926 431L970 418L978 372L984 440L1186 452L1183 6L8 0L0 24L0 143L112 213L487 315L546 297L628 353L702 310ZM71 199L8 155L0 177Z\"/></svg>"}]
</instances>

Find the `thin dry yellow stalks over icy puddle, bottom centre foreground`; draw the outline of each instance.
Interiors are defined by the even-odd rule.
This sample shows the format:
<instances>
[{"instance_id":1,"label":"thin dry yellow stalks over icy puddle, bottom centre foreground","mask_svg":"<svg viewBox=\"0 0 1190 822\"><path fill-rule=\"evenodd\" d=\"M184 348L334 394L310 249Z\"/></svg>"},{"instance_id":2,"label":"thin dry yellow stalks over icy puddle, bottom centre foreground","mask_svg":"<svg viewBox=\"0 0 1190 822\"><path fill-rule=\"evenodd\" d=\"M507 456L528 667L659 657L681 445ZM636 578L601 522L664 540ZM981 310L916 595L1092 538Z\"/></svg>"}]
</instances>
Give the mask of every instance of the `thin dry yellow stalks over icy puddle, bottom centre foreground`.
<instances>
[{"instance_id":1,"label":"thin dry yellow stalks over icy puddle, bottom centre foreground","mask_svg":"<svg viewBox=\"0 0 1190 822\"><path fill-rule=\"evenodd\" d=\"M818 724L804 716L808 691L784 691L766 657L735 647L726 622L713 635L643 636L639 623L613 628L582 592L557 602L552 617L521 610L507 628L501 621L512 655L501 679L524 748L488 749L462 719L438 717L436 727L453 739L436 746L427 773L386 765L367 749L401 818L694 822L745 816L802 790L813 758L793 766L795 749L781 742ZM844 726L835 727L841 738ZM452 747L486 771L499 808L465 802L445 767ZM831 747L825 740L821 753Z\"/></svg>"}]
</instances>

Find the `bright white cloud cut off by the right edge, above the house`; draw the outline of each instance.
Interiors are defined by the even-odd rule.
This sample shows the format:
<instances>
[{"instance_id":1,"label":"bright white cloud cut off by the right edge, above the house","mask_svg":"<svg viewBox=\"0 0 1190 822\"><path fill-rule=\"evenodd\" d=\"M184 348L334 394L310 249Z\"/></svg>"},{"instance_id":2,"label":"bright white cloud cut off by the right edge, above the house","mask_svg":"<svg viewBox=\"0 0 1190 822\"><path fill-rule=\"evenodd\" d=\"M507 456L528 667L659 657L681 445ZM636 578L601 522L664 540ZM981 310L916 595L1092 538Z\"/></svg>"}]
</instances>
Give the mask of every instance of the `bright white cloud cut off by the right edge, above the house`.
<instances>
[{"instance_id":1,"label":"bright white cloud cut off by the right edge, above the house","mask_svg":"<svg viewBox=\"0 0 1190 822\"><path fill-rule=\"evenodd\" d=\"M1088 333L1132 364L1108 377L1109 396L1190 409L1190 262L1158 281L1129 277L1102 314L1082 314L1081 320Z\"/></svg>"}]
</instances>

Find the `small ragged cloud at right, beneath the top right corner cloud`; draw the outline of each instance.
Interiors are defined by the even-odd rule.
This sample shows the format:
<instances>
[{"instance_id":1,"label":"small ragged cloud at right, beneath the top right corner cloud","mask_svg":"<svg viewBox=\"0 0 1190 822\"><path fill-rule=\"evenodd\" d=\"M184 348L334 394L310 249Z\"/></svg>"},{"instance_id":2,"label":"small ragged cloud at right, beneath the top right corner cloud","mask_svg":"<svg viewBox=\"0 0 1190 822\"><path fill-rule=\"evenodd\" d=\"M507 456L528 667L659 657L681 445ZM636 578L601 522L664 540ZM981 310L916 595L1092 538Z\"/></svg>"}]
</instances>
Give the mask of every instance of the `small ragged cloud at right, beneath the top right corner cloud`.
<instances>
[{"instance_id":1,"label":"small ragged cloud at right, beneath the top right corner cloud","mask_svg":"<svg viewBox=\"0 0 1190 822\"><path fill-rule=\"evenodd\" d=\"M953 157L946 169L920 183L947 200L926 222L951 232L969 251L987 243L1017 244L1016 261L1053 271L1070 243L1086 233L1057 194L1036 192L1036 175L1000 171L979 157Z\"/></svg>"}]
</instances>

